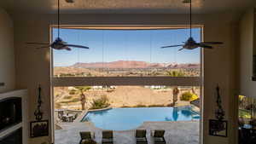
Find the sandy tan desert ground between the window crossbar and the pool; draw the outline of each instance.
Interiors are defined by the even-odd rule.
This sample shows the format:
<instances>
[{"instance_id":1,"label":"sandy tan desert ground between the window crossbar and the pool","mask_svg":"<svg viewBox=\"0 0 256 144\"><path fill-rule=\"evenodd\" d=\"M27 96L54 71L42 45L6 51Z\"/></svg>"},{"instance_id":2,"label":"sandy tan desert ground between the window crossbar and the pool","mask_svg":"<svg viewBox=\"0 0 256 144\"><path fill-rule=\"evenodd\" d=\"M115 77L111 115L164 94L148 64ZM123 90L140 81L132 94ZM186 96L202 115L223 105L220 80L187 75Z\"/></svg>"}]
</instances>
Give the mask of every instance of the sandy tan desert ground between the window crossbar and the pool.
<instances>
[{"instance_id":1,"label":"sandy tan desert ground between the window crossbar and the pool","mask_svg":"<svg viewBox=\"0 0 256 144\"><path fill-rule=\"evenodd\" d=\"M55 108L81 109L79 94L70 94L72 87L55 88ZM179 96L191 88L179 88ZM199 89L195 88L199 95ZM85 107L90 108L94 99L107 95L111 107L136 107L138 105L168 106L172 103L172 88L152 89L144 86L117 86L115 89L90 89L86 93ZM177 105L189 105L188 101L180 101Z\"/></svg>"}]
</instances>

